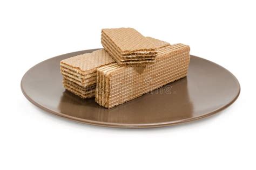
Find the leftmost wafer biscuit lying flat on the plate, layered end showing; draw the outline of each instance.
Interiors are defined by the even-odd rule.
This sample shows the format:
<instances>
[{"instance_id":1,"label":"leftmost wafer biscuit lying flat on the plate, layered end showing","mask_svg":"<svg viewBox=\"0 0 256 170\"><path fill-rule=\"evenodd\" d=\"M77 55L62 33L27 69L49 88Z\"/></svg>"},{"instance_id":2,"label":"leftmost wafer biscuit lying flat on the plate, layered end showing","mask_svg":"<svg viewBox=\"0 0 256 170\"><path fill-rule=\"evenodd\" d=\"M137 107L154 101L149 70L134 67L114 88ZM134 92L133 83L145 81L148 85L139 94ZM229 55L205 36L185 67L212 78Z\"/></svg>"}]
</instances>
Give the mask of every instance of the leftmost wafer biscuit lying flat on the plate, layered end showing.
<instances>
[{"instance_id":1,"label":"leftmost wafer biscuit lying flat on the plate, layered end showing","mask_svg":"<svg viewBox=\"0 0 256 170\"><path fill-rule=\"evenodd\" d=\"M113 62L104 49L60 61L64 88L82 98L94 97L96 69Z\"/></svg>"}]
</instances>

